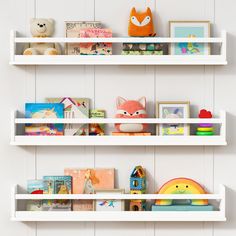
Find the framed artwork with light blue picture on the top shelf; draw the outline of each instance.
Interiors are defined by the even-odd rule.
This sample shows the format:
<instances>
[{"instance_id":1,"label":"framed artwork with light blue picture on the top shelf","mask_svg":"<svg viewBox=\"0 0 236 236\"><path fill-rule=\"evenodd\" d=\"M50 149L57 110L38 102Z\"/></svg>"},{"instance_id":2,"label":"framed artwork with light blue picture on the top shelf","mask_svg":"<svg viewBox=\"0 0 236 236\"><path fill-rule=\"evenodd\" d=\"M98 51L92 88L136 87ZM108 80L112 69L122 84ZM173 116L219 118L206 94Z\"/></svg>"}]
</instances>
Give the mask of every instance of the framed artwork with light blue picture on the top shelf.
<instances>
[{"instance_id":1,"label":"framed artwork with light blue picture on the top shelf","mask_svg":"<svg viewBox=\"0 0 236 236\"><path fill-rule=\"evenodd\" d=\"M169 21L172 38L208 38L210 37L210 21ZM208 43L172 43L171 55L209 55Z\"/></svg>"}]
</instances>

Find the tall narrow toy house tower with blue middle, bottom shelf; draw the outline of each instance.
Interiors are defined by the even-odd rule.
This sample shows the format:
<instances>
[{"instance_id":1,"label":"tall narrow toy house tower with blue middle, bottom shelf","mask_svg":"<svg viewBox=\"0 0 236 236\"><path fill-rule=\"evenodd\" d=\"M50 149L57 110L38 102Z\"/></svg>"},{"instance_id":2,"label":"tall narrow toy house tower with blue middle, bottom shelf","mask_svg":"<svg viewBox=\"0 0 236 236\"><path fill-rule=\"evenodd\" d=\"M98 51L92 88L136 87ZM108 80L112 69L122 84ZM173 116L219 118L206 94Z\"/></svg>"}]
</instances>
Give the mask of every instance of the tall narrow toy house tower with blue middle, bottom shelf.
<instances>
[{"instance_id":1,"label":"tall narrow toy house tower with blue middle, bottom shelf","mask_svg":"<svg viewBox=\"0 0 236 236\"><path fill-rule=\"evenodd\" d=\"M142 166L136 166L130 175L130 193L145 194L146 193L146 173ZM131 200L130 211L145 211L146 200Z\"/></svg>"}]
</instances>

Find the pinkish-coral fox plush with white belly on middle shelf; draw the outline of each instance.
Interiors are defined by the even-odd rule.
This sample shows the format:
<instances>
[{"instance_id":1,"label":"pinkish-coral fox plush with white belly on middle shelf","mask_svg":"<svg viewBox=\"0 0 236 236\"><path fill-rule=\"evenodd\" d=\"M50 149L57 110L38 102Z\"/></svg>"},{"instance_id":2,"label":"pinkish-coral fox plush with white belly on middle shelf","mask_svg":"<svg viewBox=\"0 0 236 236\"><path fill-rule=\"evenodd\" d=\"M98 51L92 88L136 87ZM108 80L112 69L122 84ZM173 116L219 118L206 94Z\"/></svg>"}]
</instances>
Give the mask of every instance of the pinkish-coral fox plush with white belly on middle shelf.
<instances>
[{"instance_id":1,"label":"pinkish-coral fox plush with white belly on middle shelf","mask_svg":"<svg viewBox=\"0 0 236 236\"><path fill-rule=\"evenodd\" d=\"M116 118L137 119L147 118L146 98L138 101L126 100L122 97L116 99ZM118 132L145 132L147 124L115 124Z\"/></svg>"}]
</instances>

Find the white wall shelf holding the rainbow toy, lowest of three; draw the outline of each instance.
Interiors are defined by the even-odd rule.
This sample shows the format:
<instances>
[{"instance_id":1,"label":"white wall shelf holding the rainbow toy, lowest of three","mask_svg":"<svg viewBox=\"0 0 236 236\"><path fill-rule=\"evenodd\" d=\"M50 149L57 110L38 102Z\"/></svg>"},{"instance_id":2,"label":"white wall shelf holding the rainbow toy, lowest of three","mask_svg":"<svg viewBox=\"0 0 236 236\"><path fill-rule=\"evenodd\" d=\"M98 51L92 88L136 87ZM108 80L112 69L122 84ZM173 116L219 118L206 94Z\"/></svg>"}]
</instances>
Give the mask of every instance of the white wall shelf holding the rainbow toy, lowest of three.
<instances>
[{"instance_id":1,"label":"white wall shelf holding the rainbow toy, lowest of three","mask_svg":"<svg viewBox=\"0 0 236 236\"><path fill-rule=\"evenodd\" d=\"M225 186L219 186L219 194L142 194L139 199L211 199L219 202L219 210L205 212L185 211L18 211L18 201L28 199L134 199L133 194L22 194L18 186L12 188L13 221L225 221Z\"/></svg>"}]
</instances>

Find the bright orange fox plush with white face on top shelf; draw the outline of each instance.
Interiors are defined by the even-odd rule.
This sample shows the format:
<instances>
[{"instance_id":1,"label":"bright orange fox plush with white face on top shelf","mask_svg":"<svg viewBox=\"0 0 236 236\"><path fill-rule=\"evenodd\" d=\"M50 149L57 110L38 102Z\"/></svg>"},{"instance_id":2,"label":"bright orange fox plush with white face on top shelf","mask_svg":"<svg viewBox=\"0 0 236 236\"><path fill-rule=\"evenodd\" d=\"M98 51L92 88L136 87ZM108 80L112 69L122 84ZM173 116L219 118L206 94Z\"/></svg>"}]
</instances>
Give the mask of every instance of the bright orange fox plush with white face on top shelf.
<instances>
[{"instance_id":1,"label":"bright orange fox plush with white face on top shelf","mask_svg":"<svg viewBox=\"0 0 236 236\"><path fill-rule=\"evenodd\" d=\"M149 7L145 12L136 12L136 9L132 8L129 18L128 35L134 37L155 36L152 12Z\"/></svg>"}]
</instances>

